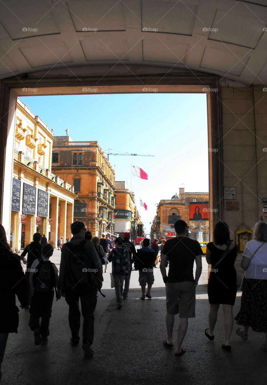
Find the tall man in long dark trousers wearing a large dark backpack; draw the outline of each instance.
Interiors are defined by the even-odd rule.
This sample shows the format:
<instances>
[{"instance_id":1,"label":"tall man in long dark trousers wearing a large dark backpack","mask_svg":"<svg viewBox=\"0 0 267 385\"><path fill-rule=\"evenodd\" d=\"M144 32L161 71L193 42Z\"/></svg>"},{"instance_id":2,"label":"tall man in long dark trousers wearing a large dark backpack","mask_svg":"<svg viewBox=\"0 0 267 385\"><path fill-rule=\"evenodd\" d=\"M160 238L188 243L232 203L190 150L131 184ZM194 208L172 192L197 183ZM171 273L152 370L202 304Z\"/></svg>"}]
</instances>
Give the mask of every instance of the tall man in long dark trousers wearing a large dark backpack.
<instances>
[{"instance_id":1,"label":"tall man in long dark trousers wearing a large dark backpack","mask_svg":"<svg viewBox=\"0 0 267 385\"><path fill-rule=\"evenodd\" d=\"M97 304L97 290L102 288L102 264L93 243L84 239L84 223L73 222L70 230L73 237L69 243L63 245L61 251L60 288L69 306L68 323L72 333L70 342L75 346L80 340L80 299L83 315L82 349L85 357L93 357L93 313Z\"/></svg>"}]
</instances>

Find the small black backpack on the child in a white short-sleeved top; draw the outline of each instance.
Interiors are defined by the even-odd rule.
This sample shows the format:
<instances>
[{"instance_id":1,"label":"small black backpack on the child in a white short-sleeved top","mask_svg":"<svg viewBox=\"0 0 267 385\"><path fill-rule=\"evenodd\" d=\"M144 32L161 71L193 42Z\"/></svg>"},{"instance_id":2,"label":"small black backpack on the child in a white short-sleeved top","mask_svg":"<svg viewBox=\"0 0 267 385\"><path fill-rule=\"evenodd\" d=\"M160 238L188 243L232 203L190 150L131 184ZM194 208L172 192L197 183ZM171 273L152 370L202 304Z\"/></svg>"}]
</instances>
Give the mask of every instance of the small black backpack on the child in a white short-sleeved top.
<instances>
[{"instance_id":1,"label":"small black backpack on the child in a white short-sleeved top","mask_svg":"<svg viewBox=\"0 0 267 385\"><path fill-rule=\"evenodd\" d=\"M55 286L55 270L50 261L41 259L32 277L33 288L38 293L50 293Z\"/></svg>"}]
</instances>

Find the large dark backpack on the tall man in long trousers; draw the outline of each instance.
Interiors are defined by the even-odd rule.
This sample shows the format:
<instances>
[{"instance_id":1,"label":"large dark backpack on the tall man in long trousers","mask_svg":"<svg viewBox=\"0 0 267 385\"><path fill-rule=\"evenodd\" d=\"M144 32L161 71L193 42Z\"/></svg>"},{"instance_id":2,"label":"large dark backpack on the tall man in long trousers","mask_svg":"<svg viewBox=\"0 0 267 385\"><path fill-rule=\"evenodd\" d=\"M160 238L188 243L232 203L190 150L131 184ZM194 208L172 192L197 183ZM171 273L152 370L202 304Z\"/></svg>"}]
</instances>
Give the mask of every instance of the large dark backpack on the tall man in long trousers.
<instances>
[{"instance_id":1,"label":"large dark backpack on the tall man in long trousers","mask_svg":"<svg viewBox=\"0 0 267 385\"><path fill-rule=\"evenodd\" d=\"M70 258L67 263L67 287L93 285L95 281L95 269L92 266L91 257L85 249L86 242L88 241L83 239L78 245L68 242L63 246L70 250Z\"/></svg>"}]
</instances>

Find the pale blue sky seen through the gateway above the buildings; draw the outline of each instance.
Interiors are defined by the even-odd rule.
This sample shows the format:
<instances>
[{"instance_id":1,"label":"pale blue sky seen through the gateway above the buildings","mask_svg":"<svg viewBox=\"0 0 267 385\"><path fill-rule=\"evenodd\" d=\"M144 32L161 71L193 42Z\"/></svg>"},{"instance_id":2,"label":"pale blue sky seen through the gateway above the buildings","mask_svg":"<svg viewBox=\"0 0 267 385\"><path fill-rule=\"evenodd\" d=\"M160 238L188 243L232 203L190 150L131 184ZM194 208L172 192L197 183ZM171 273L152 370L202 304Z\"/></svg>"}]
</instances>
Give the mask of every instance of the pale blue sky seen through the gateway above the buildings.
<instances>
[{"instance_id":1,"label":"pale blue sky seen through the gateway above the buildings","mask_svg":"<svg viewBox=\"0 0 267 385\"><path fill-rule=\"evenodd\" d=\"M147 172L148 181L132 177L137 209L146 233L156 203L179 187L208 192L208 132L205 94L107 94L20 97L55 136L69 129L73 141L98 141L103 151L152 154L110 156L115 180L131 188L131 164ZM183 185L182 185L183 184Z\"/></svg>"}]
</instances>

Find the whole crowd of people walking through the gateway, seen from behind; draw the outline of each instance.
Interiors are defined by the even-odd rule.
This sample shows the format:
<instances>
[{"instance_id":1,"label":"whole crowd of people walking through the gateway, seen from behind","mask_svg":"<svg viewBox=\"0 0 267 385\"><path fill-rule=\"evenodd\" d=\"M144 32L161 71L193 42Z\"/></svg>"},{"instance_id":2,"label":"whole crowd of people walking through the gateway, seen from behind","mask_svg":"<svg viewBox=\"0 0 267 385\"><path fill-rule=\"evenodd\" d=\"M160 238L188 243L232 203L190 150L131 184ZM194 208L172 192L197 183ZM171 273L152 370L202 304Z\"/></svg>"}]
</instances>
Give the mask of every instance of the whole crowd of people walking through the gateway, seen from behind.
<instances>
[{"instance_id":1,"label":"whole crowd of people walking through the gateway, seen from behind","mask_svg":"<svg viewBox=\"0 0 267 385\"><path fill-rule=\"evenodd\" d=\"M152 299L154 268L160 261L160 272L166 287L166 348L174 346L173 327L175 315L179 314L178 335L175 356L182 356L182 343L188 328L188 319L195 317L195 290L202 272L202 250L200 244L189 238L187 224L179 220L174 225L176 237L163 240L160 245L154 239L144 239L140 249L130 241L130 233L113 242L102 234L102 238L92 237L83 222L71 224L72 238L58 244L61 249L60 270L49 259L53 246L47 242L45 234L33 235L33 241L21 255L14 254L6 238L5 229L0 225L0 283L2 308L5 314L0 318L0 365L3 360L8 333L17 333L17 295L21 308L30 306L29 326L33 331L35 345L47 344L49 321L53 298L65 297L69 307L68 323L71 332L70 343L75 346L80 341L80 308L83 316L82 349L85 357L93 357L94 310L97 293L101 293L103 273L112 263L112 279L115 288L117 309L122 308L122 300L128 298L132 269L139 271L141 300ZM267 351L267 224L260 221L254 227L254 239L247 242L241 267L245 274L242 280L241 308L233 316L233 306L237 293L235 259L237 244L230 239L229 227L224 222L215 225L213 242L207 244L206 260L210 268L208 297L210 304L209 327L204 334L214 341L215 325L219 306L224 312L224 339L222 349L231 351L230 336L234 319L238 327L236 334L248 340L249 327L253 331L265 333L262 350ZM62 241L62 239L60 239ZM27 255L27 259L25 256ZM26 264L25 274L22 263ZM194 263L196 266L194 274ZM167 275L167 266L169 271ZM104 271L103 271L104 269ZM146 290L147 288L147 290ZM102 294L103 295L103 294ZM103 295L104 296L104 295ZM40 321L41 319L41 321ZM0 372L0 375L1 372Z\"/></svg>"}]
</instances>

